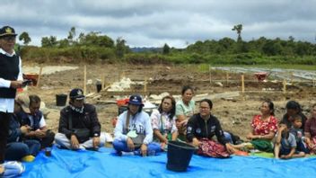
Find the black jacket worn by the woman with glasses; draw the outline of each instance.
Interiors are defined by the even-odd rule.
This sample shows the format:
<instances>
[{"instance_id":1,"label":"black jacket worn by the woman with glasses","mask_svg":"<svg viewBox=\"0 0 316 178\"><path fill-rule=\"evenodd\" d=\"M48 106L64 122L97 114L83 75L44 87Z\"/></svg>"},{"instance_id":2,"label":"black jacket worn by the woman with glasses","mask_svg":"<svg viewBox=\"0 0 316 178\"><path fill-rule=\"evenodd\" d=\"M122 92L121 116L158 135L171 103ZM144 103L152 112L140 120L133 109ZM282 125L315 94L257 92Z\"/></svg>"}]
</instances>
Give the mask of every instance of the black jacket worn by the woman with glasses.
<instances>
[{"instance_id":1,"label":"black jacket worn by the woman with glasses","mask_svg":"<svg viewBox=\"0 0 316 178\"><path fill-rule=\"evenodd\" d=\"M194 114L188 121L187 125L187 139L189 142L192 141L193 138L208 138L212 139L213 136L217 137L217 140L221 144L226 144L227 140L224 138L224 131L219 123L219 120L213 115L205 121L198 114Z\"/></svg>"}]
</instances>

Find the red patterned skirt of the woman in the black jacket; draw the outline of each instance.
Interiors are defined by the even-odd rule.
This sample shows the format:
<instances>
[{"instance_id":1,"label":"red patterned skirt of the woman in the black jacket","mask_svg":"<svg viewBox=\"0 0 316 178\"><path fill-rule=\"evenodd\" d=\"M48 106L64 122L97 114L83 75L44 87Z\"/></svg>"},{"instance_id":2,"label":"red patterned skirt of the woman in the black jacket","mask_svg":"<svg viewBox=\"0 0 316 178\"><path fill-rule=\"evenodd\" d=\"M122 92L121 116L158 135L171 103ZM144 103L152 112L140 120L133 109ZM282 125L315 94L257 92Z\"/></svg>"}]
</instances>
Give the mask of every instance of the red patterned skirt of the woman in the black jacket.
<instances>
[{"instance_id":1,"label":"red patterned skirt of the woman in the black jacket","mask_svg":"<svg viewBox=\"0 0 316 178\"><path fill-rule=\"evenodd\" d=\"M226 147L213 140L202 138L199 140L198 155L210 157L229 157Z\"/></svg>"}]
</instances>

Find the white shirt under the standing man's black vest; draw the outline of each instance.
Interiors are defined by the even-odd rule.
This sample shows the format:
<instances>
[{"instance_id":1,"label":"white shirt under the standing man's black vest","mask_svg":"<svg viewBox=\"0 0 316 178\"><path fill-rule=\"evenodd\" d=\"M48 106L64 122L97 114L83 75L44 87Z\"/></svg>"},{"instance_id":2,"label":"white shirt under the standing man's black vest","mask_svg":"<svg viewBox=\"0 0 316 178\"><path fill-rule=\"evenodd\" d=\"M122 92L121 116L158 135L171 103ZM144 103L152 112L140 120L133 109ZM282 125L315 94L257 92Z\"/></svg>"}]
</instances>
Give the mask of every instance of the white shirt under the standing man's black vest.
<instances>
[{"instance_id":1,"label":"white shirt under the standing man's black vest","mask_svg":"<svg viewBox=\"0 0 316 178\"><path fill-rule=\"evenodd\" d=\"M7 57L13 57L13 55L15 55L15 51L13 51L13 54L9 54L9 53L5 52L4 49L1 49L1 48L0 48L0 52L1 52L1 54L4 54ZM19 57L18 80L23 80L22 63L21 63L20 57ZM11 85L10 80L4 80L4 78L0 78L0 87L10 88L10 85ZM13 113L13 111L14 111L14 99L13 98L0 98L0 111Z\"/></svg>"}]
</instances>

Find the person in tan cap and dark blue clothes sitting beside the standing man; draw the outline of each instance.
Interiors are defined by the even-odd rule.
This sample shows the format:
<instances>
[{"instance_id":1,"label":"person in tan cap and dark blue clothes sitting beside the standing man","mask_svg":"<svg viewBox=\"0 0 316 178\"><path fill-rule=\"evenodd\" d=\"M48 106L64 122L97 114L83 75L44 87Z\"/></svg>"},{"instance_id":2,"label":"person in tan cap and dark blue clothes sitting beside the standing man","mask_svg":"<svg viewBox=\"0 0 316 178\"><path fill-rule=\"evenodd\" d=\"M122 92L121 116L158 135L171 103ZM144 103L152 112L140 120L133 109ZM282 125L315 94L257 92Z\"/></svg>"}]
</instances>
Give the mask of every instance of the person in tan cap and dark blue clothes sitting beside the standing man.
<instances>
[{"instance_id":1,"label":"person in tan cap and dark blue clothes sitting beside the standing man","mask_svg":"<svg viewBox=\"0 0 316 178\"><path fill-rule=\"evenodd\" d=\"M5 159L6 160L23 160L32 161L34 156L40 151L40 142L35 139L27 139L21 141L22 135L30 133L31 128L27 125L20 125L20 120L16 114L19 111L30 113L29 96L26 94L19 94L14 101L14 112L10 120L10 129L8 142L6 144Z\"/></svg>"}]
</instances>

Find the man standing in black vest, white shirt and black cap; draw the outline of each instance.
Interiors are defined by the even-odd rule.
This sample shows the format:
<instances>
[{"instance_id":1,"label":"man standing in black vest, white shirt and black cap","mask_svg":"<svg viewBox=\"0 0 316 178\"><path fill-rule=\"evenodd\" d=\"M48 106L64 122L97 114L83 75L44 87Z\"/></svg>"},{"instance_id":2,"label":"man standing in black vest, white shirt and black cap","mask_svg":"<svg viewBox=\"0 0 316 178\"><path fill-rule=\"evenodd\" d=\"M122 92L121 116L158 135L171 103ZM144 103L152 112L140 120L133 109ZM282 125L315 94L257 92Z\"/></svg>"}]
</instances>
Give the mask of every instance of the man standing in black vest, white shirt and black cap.
<instances>
[{"instance_id":1,"label":"man standing in black vest, white shirt and black cap","mask_svg":"<svg viewBox=\"0 0 316 178\"><path fill-rule=\"evenodd\" d=\"M16 35L12 27L0 29L0 174L4 172L5 146L16 89L22 87L21 58L14 51Z\"/></svg>"}]
</instances>

